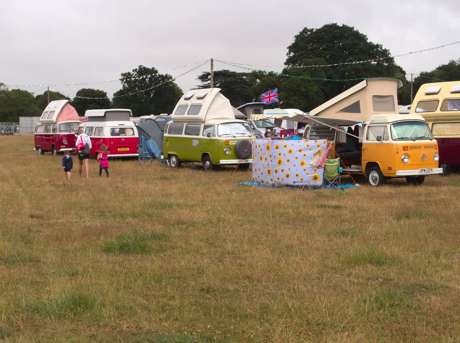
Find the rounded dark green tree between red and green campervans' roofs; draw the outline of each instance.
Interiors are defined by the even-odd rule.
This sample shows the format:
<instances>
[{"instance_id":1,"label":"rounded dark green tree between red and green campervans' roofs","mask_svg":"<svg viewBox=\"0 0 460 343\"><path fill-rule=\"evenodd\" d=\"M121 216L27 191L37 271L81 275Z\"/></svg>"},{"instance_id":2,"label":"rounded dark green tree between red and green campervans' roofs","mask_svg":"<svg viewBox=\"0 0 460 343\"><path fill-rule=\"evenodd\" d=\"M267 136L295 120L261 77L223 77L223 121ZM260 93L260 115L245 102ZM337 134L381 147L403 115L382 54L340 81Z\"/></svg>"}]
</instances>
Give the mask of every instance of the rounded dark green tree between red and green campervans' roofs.
<instances>
[{"instance_id":1,"label":"rounded dark green tree between red and green campervans' roofs","mask_svg":"<svg viewBox=\"0 0 460 343\"><path fill-rule=\"evenodd\" d=\"M132 72L122 73L120 81L121 90L114 94L113 107L131 109L136 117L170 114L183 94L171 75L142 65ZM130 93L135 94L127 95Z\"/></svg>"}]
</instances>

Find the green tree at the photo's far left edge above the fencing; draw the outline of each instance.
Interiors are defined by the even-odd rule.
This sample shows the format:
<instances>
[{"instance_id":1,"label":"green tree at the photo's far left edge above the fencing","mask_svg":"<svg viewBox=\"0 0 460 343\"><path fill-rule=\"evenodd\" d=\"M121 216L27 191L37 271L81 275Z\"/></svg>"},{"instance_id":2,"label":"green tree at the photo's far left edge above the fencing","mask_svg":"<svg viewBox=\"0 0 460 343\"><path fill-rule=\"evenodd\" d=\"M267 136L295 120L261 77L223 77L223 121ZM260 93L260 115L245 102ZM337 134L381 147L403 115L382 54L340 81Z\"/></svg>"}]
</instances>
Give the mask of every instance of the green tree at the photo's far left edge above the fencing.
<instances>
[{"instance_id":1,"label":"green tree at the photo's far left edge above the fencing","mask_svg":"<svg viewBox=\"0 0 460 343\"><path fill-rule=\"evenodd\" d=\"M34 94L22 89L0 90L0 121L18 122L20 116L35 117L41 112Z\"/></svg>"}]
</instances>

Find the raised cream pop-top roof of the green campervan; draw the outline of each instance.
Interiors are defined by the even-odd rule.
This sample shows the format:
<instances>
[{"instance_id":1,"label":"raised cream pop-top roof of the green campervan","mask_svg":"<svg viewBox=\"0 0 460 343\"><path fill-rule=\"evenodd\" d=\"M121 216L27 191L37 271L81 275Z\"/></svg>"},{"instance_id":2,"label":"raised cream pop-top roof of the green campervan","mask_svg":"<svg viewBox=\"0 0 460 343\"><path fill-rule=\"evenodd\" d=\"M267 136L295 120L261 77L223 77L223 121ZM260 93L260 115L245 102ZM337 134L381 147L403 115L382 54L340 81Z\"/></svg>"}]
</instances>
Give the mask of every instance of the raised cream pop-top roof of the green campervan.
<instances>
[{"instance_id":1,"label":"raised cream pop-top roof of the green campervan","mask_svg":"<svg viewBox=\"0 0 460 343\"><path fill-rule=\"evenodd\" d=\"M171 114L175 123L204 123L212 119L235 119L230 101L220 93L220 88L187 91Z\"/></svg>"}]
</instances>

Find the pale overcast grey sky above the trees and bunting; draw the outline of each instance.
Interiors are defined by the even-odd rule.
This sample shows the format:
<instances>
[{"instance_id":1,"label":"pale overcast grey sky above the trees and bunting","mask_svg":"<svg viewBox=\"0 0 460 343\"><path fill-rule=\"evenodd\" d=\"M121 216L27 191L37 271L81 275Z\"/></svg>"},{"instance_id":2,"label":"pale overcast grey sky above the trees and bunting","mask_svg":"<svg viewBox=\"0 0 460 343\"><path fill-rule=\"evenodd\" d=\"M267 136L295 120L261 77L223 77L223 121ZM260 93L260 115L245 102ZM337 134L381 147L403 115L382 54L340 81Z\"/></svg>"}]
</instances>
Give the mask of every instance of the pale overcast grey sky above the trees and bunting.
<instances>
[{"instance_id":1,"label":"pale overcast grey sky above the trees and bunting","mask_svg":"<svg viewBox=\"0 0 460 343\"><path fill-rule=\"evenodd\" d=\"M295 34L326 23L354 26L399 55L460 40L458 13L458 0L0 0L0 81L117 80L139 64L163 71L211 57L281 66ZM408 73L419 73L459 57L460 43L398 57L396 63ZM241 71L217 62L214 67ZM204 70L209 63L176 82L186 91ZM121 86L53 88L74 96L83 87L111 96Z\"/></svg>"}]
</instances>

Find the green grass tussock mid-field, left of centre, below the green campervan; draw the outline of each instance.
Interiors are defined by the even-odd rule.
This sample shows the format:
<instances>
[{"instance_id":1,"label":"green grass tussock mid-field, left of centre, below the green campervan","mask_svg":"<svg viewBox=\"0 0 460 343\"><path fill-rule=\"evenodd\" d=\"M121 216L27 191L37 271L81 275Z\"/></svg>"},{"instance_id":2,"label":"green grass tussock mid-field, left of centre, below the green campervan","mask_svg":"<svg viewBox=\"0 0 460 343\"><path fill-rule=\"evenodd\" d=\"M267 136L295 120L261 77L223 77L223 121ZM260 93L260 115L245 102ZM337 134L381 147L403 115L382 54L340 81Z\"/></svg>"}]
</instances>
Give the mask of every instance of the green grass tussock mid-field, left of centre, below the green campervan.
<instances>
[{"instance_id":1,"label":"green grass tussock mid-field, left of centre, below the green campervan","mask_svg":"<svg viewBox=\"0 0 460 343\"><path fill-rule=\"evenodd\" d=\"M148 254L155 251L152 241L163 241L170 235L163 232L132 233L117 237L104 243L102 251L106 254Z\"/></svg>"}]
</instances>

